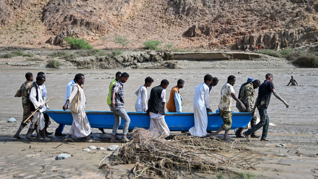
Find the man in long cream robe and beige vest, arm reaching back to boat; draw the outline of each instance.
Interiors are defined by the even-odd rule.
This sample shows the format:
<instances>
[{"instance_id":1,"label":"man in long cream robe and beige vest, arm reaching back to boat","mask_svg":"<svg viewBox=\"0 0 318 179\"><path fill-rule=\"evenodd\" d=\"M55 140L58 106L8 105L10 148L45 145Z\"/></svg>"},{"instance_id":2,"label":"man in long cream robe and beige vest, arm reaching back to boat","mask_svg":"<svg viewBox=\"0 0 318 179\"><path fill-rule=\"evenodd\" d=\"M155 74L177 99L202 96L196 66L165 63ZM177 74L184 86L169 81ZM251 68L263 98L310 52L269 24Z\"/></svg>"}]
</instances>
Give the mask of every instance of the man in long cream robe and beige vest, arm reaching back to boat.
<instances>
[{"instance_id":1,"label":"man in long cream robe and beige vest, arm reaching back to boat","mask_svg":"<svg viewBox=\"0 0 318 179\"><path fill-rule=\"evenodd\" d=\"M73 116L73 123L66 141L74 142L71 137L72 135L75 135L77 138L85 137L86 142L94 142L94 140L88 139L88 135L91 133L92 128L85 113L86 98L83 90L83 84L85 82L84 75L81 73L76 74L75 82L72 93L67 97L66 103L63 106L63 110L65 111L69 104L69 109Z\"/></svg>"}]
</instances>

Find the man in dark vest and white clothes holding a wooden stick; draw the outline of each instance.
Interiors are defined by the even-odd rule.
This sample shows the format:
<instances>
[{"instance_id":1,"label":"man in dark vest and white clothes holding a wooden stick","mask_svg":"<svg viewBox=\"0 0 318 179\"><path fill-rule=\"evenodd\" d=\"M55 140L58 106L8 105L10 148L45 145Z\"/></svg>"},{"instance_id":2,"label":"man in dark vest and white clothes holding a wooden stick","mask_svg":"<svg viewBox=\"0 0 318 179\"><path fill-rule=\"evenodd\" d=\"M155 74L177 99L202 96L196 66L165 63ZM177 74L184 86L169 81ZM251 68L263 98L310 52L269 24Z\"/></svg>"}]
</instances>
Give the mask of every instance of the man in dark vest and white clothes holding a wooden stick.
<instances>
[{"instance_id":1,"label":"man in dark vest and white clothes holding a wooden stick","mask_svg":"<svg viewBox=\"0 0 318 179\"><path fill-rule=\"evenodd\" d=\"M43 92L40 87L45 82L45 77L43 75L38 75L36 80L37 81L33 83L31 87L30 96L29 96L31 101L30 111L32 113L33 111L36 111L36 109L38 108L39 110L33 114L33 118L30 124L31 131L27 133L25 137L29 140L33 140L31 135L34 131L36 131L38 140L41 139L41 134L42 134L44 141L50 141L50 139L47 138L45 135L45 120L44 120L43 111L45 111L46 106L42 106L44 101L43 101Z\"/></svg>"}]
</instances>

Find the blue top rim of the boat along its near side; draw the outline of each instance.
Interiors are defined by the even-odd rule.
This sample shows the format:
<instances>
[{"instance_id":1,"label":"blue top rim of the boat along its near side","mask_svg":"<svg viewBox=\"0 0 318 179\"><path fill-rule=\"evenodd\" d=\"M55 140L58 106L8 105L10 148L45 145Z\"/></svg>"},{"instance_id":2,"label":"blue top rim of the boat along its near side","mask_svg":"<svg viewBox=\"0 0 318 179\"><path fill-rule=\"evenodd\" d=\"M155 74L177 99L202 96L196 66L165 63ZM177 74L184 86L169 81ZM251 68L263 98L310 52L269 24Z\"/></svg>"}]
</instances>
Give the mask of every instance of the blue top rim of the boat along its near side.
<instances>
[{"instance_id":1,"label":"blue top rim of the boat along its near side","mask_svg":"<svg viewBox=\"0 0 318 179\"><path fill-rule=\"evenodd\" d=\"M46 110L52 113L71 113L71 111L64 110ZM112 111L85 111L86 114L114 114ZM127 112L128 115L146 115L146 112ZM252 115L251 112L232 112L232 115ZM166 112L166 116L192 116L193 112ZM209 116L219 116L220 113L209 112Z\"/></svg>"}]
</instances>

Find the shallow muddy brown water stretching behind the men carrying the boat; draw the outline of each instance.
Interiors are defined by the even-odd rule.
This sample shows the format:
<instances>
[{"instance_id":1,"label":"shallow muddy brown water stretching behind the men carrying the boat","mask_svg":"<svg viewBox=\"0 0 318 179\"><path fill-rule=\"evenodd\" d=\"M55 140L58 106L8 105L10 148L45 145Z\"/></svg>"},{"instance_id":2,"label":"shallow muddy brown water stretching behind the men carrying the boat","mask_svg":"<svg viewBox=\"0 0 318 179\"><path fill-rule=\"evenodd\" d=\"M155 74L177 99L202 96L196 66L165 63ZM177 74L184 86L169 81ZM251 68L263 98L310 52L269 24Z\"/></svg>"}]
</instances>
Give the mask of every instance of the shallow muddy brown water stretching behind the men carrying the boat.
<instances>
[{"instance_id":1,"label":"shallow muddy brown water stretching behind the men carrying the boat","mask_svg":"<svg viewBox=\"0 0 318 179\"><path fill-rule=\"evenodd\" d=\"M25 81L25 73L31 72L34 76L38 71L46 73L45 86L48 97L54 96L48 103L50 109L62 109L65 98L66 84L72 80L76 73L85 75L84 90L86 95L86 110L109 111L106 103L109 83L114 78L118 70L90 70L90 69L72 69L72 70L52 70L52 69L0 69L3 77L0 96L1 114L21 114L21 98L15 98L16 91ZM287 68L287 69L120 69L121 72L128 72L130 77L124 84L125 109L126 111L135 111L135 90L144 84L147 76L152 77L155 82L148 88L150 89L160 84L162 79L167 79L170 84L167 88L166 99L169 99L170 89L176 85L178 79L185 81L184 88L180 89L183 97L183 112L193 111L193 95L196 85L203 82L205 74L209 73L213 77L218 77L219 83L212 88L210 94L210 107L215 111L220 100L220 89L227 81L229 75L236 76L234 90L238 95L239 87L246 82L248 77L265 80L266 73L274 75L274 86L280 96L287 101L289 108L276 99L273 95L268 107L270 122L275 124L300 124L310 125L317 121L316 112L318 112L318 84L316 82L318 69L316 68ZM293 75L299 86L286 86L290 76ZM35 77L34 77L35 80ZM258 89L256 89L256 94ZM257 95L255 95L256 99ZM232 103L232 111L238 111L235 102Z\"/></svg>"}]
</instances>

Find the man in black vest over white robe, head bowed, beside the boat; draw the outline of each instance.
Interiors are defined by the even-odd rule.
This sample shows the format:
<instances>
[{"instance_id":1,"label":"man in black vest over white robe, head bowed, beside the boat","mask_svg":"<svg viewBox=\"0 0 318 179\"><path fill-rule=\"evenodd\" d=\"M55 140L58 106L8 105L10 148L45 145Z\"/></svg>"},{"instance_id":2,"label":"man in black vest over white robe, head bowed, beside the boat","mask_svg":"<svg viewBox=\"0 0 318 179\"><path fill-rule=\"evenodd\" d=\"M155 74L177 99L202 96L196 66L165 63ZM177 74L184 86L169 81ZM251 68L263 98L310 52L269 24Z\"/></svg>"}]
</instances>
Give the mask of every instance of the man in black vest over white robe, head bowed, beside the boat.
<instances>
[{"instance_id":1,"label":"man in black vest over white robe, head bowed, beside the boat","mask_svg":"<svg viewBox=\"0 0 318 179\"><path fill-rule=\"evenodd\" d=\"M168 125L164 119L164 105L166 103L166 89L169 85L168 80L162 80L159 86L151 89L147 115L150 115L149 130L154 136L167 137L170 134Z\"/></svg>"}]
</instances>

